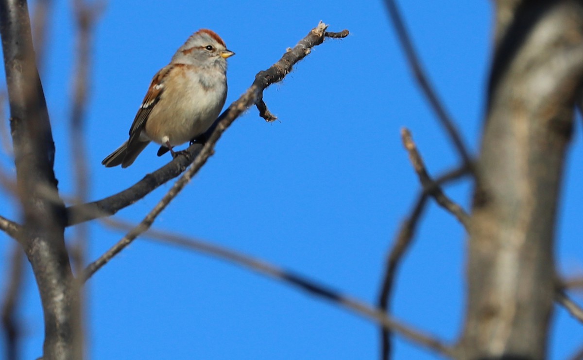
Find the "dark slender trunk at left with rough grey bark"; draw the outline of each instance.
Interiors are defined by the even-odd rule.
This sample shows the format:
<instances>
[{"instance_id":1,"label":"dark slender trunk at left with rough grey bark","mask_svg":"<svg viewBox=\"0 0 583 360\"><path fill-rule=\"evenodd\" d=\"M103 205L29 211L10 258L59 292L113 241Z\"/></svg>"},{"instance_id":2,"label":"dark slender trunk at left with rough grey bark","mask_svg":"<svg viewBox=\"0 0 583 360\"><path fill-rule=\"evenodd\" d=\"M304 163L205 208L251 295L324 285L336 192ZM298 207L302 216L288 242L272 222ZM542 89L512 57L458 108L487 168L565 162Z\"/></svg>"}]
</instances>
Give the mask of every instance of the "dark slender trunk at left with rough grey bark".
<instances>
[{"instance_id":1,"label":"dark slender trunk at left with rough grey bark","mask_svg":"<svg viewBox=\"0 0 583 360\"><path fill-rule=\"evenodd\" d=\"M55 147L34 59L26 1L0 1L0 33L24 224L19 241L33 268L43 304L43 357L76 359L81 357L74 331L79 321L78 297L64 242L65 207L43 196L57 193Z\"/></svg>"}]
</instances>

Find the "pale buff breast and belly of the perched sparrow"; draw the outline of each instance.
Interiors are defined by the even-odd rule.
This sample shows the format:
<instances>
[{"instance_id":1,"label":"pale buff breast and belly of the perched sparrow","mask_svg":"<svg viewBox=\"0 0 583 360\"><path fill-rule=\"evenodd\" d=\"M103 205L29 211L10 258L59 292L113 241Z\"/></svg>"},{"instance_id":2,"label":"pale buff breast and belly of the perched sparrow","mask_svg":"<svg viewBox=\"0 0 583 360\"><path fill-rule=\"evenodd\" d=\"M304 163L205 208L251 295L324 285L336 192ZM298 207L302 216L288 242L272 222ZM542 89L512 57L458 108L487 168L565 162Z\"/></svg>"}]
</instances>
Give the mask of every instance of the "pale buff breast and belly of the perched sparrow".
<instances>
[{"instance_id":1,"label":"pale buff breast and belly of the perched sparrow","mask_svg":"<svg viewBox=\"0 0 583 360\"><path fill-rule=\"evenodd\" d=\"M183 69L194 68L183 65ZM211 69L208 76L194 71L176 72L175 86L166 86L146 121L145 132L153 142L180 145L205 132L219 116L227 95L226 76ZM164 140L163 140L164 139Z\"/></svg>"}]
</instances>

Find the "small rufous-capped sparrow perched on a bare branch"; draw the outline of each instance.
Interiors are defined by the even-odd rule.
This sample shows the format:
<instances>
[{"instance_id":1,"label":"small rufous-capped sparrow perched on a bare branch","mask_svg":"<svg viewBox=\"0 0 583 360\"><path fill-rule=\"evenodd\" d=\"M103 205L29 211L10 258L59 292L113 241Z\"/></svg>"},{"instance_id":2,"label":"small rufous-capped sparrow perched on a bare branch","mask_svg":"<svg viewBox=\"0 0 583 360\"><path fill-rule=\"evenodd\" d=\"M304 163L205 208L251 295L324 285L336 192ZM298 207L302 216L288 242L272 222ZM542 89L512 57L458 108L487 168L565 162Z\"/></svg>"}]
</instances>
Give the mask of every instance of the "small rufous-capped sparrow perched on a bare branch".
<instances>
[{"instance_id":1,"label":"small rufous-capped sparrow perched on a bare branch","mask_svg":"<svg viewBox=\"0 0 583 360\"><path fill-rule=\"evenodd\" d=\"M151 141L158 156L204 133L219 116L227 97L227 50L222 38L202 29L188 38L162 68L129 129L129 140L101 161L126 168Z\"/></svg>"}]
</instances>

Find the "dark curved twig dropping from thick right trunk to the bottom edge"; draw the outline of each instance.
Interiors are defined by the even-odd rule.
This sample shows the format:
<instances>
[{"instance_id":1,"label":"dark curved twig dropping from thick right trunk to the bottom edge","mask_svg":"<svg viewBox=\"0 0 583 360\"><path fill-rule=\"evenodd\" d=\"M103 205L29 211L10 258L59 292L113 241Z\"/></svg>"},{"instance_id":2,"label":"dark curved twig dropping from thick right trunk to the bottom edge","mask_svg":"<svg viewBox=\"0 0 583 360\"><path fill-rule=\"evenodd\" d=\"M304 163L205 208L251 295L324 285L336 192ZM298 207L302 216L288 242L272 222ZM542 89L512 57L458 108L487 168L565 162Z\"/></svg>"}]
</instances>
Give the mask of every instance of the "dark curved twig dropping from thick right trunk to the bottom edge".
<instances>
[{"instance_id":1,"label":"dark curved twig dropping from thick right trunk to the bottom edge","mask_svg":"<svg viewBox=\"0 0 583 360\"><path fill-rule=\"evenodd\" d=\"M459 179L464 175L469 173L469 169L465 167L457 168L453 171L449 171L444 175L438 177L435 181L435 185L439 186L446 182ZM378 297L378 306L384 312L388 312L389 300L391 299L391 293L393 284L395 282L396 271L399 264L403 258L403 255L409 249L412 243L413 236L415 236L415 231L419 219L423 214L425 205L427 204L427 199L429 197L429 189L423 188L417 196L415 201L415 206L409 214L408 217L401 223L401 227L395 237L395 242L387 256L387 266L385 268L385 275L382 280L381 291ZM381 358L387 360L391 355L391 331L389 329L381 329Z\"/></svg>"}]
</instances>

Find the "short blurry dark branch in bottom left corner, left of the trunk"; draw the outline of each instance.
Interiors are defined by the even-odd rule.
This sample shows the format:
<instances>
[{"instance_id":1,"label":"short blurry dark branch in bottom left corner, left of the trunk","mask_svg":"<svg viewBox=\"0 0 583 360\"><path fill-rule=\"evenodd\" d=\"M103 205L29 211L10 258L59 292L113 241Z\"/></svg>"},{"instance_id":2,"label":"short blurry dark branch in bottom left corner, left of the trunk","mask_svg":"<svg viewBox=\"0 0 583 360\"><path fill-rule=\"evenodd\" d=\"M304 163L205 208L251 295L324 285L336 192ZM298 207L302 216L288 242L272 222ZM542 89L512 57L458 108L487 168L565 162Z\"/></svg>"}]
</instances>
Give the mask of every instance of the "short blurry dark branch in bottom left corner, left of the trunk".
<instances>
[{"instance_id":1,"label":"short blurry dark branch in bottom left corner, left of the trunk","mask_svg":"<svg viewBox=\"0 0 583 360\"><path fill-rule=\"evenodd\" d=\"M2 302L2 327L4 329L5 355L7 360L19 359L19 340L22 330L16 313L20 305L20 297L24 284L24 252L22 246L13 243L10 266L6 272L8 287L4 292Z\"/></svg>"}]
</instances>

